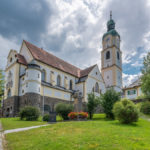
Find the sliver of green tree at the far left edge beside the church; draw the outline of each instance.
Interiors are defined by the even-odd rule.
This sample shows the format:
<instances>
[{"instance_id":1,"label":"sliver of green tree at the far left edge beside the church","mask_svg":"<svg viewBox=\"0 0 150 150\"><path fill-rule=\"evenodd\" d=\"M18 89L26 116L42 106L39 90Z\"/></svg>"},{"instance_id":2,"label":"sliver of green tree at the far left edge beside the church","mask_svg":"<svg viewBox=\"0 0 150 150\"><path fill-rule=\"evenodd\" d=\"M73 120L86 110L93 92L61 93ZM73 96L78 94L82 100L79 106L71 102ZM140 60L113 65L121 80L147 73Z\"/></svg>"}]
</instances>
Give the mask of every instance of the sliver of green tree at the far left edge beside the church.
<instances>
[{"instance_id":1,"label":"sliver of green tree at the far left edge beside the church","mask_svg":"<svg viewBox=\"0 0 150 150\"><path fill-rule=\"evenodd\" d=\"M4 75L3 70L0 69L0 103L4 95Z\"/></svg>"}]
</instances>

